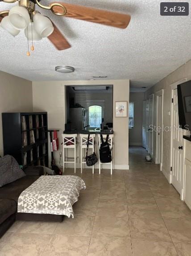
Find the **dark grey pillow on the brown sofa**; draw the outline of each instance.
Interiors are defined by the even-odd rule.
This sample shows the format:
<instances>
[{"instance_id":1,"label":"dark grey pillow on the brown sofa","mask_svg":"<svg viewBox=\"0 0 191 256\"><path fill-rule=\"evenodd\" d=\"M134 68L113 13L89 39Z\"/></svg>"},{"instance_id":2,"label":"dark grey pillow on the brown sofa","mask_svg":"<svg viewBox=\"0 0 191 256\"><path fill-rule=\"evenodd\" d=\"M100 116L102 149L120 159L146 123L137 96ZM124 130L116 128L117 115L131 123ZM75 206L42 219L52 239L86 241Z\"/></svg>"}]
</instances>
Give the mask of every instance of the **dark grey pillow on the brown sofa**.
<instances>
[{"instance_id":1,"label":"dark grey pillow on the brown sofa","mask_svg":"<svg viewBox=\"0 0 191 256\"><path fill-rule=\"evenodd\" d=\"M25 176L13 156L0 158L0 187Z\"/></svg>"}]
</instances>

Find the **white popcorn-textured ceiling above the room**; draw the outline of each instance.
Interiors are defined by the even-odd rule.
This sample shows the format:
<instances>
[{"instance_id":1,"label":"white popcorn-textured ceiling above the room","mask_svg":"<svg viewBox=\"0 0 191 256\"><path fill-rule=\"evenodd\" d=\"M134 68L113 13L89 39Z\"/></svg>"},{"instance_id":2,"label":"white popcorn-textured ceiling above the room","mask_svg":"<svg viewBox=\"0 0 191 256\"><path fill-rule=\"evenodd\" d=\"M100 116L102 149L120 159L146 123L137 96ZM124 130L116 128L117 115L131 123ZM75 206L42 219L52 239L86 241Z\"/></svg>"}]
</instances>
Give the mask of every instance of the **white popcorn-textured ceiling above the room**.
<instances>
[{"instance_id":1,"label":"white popcorn-textured ceiling above the room","mask_svg":"<svg viewBox=\"0 0 191 256\"><path fill-rule=\"evenodd\" d=\"M49 15L72 48L59 52L43 39L35 43L35 52L28 57L24 32L12 38L0 29L0 70L33 81L88 80L93 75L107 75L110 80L129 78L131 87L149 87L191 59L191 15L160 16L160 0L66 2L129 13L132 19L128 28L121 30L57 17L37 8ZM0 2L0 10L14 5ZM56 73L56 65L74 66L75 72Z\"/></svg>"}]
</instances>

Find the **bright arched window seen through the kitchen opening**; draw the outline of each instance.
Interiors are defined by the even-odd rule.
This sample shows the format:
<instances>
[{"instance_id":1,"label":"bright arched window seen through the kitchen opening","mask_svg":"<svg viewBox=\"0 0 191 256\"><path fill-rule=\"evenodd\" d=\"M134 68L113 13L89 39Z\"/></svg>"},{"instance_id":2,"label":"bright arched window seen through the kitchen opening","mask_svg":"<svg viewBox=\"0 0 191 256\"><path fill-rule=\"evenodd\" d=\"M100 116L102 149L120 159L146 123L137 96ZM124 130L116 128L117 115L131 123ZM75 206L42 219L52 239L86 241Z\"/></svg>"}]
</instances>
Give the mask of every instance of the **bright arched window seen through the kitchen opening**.
<instances>
[{"instance_id":1,"label":"bright arched window seen through the kitchen opening","mask_svg":"<svg viewBox=\"0 0 191 256\"><path fill-rule=\"evenodd\" d=\"M90 106L89 107L89 125L90 127L100 127L102 121L102 107Z\"/></svg>"}]
</instances>

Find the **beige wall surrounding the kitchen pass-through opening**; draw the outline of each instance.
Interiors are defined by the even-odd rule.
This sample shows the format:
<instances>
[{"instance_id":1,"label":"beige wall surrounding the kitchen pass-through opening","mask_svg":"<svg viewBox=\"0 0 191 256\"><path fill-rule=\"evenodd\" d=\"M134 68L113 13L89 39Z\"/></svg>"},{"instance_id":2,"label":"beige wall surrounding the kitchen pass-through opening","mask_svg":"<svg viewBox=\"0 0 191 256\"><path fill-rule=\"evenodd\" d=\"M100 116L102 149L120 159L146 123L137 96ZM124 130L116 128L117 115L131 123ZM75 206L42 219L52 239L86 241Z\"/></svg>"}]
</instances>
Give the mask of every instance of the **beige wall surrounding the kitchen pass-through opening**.
<instances>
[{"instance_id":1,"label":"beige wall surrounding the kitchen pass-through opening","mask_svg":"<svg viewBox=\"0 0 191 256\"><path fill-rule=\"evenodd\" d=\"M49 128L60 129L59 142L66 120L65 85L113 85L113 130L115 144L116 169L129 168L129 123L128 117L115 117L115 101L129 102L129 79L99 81L63 81L33 82L33 111L48 112ZM62 151L62 149L60 150ZM55 153L55 161L59 161L59 152Z\"/></svg>"}]
</instances>

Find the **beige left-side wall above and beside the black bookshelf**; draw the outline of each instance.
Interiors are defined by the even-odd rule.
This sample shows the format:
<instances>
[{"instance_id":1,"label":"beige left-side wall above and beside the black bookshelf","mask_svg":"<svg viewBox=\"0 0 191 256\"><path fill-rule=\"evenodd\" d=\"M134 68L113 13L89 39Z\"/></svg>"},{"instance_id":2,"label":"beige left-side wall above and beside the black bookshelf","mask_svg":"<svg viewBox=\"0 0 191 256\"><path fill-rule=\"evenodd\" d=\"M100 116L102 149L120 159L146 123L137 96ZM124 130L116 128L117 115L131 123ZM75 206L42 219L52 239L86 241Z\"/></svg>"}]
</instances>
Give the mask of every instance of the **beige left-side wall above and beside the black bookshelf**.
<instances>
[{"instance_id":1,"label":"beige left-side wall above and beside the black bookshelf","mask_svg":"<svg viewBox=\"0 0 191 256\"><path fill-rule=\"evenodd\" d=\"M3 112L30 111L33 111L32 82L0 71L0 115ZM0 155L3 155L3 134L1 117Z\"/></svg>"}]
</instances>

